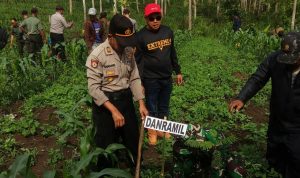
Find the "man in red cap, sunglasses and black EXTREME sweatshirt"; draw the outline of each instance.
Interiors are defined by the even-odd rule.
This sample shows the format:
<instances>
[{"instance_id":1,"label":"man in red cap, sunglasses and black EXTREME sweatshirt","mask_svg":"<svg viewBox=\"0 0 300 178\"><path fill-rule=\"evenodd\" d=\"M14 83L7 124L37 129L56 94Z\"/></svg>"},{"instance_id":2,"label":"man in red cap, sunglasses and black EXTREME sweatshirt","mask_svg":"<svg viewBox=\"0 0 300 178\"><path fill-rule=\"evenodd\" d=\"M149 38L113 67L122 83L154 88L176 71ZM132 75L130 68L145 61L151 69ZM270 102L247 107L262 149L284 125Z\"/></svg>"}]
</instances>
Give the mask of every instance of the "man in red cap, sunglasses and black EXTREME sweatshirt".
<instances>
[{"instance_id":1,"label":"man in red cap, sunglasses and black EXTREME sweatshirt","mask_svg":"<svg viewBox=\"0 0 300 178\"><path fill-rule=\"evenodd\" d=\"M145 89L149 115L168 117L172 92L172 73L177 84L183 82L174 47L173 31L161 25L162 14L158 4L148 4L144 17L147 25L137 33L136 61ZM157 142L157 132L148 130L149 144Z\"/></svg>"}]
</instances>

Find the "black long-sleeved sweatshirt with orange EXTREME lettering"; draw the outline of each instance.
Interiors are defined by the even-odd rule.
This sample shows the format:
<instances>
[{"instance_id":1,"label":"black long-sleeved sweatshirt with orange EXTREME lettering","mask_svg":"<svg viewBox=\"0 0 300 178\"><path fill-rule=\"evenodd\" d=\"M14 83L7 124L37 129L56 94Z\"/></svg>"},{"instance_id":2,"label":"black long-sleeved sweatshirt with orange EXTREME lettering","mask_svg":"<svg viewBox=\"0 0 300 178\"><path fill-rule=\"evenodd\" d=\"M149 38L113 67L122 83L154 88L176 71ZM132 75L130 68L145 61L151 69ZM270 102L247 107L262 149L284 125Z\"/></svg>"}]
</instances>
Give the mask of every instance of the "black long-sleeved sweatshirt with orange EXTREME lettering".
<instances>
[{"instance_id":1,"label":"black long-sleeved sweatshirt with orange EXTREME lettering","mask_svg":"<svg viewBox=\"0 0 300 178\"><path fill-rule=\"evenodd\" d=\"M146 27L137 33L136 62L142 78L169 78L180 73L173 31L164 25L157 32Z\"/></svg>"}]
</instances>

